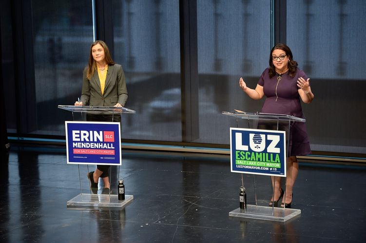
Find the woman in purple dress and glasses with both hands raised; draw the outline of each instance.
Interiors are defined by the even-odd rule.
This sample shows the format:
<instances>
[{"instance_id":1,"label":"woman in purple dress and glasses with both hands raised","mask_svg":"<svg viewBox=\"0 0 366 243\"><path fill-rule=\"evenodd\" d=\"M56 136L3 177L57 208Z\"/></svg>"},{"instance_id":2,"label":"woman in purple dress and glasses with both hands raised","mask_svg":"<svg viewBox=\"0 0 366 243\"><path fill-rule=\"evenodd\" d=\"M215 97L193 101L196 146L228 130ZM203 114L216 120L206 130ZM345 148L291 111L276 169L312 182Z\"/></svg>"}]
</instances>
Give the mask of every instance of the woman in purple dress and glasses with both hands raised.
<instances>
[{"instance_id":1,"label":"woman in purple dress and glasses with both hands raised","mask_svg":"<svg viewBox=\"0 0 366 243\"><path fill-rule=\"evenodd\" d=\"M292 58L292 52L285 44L276 44L270 52L270 67L265 69L259 78L255 89L247 87L243 78L239 86L252 99L259 100L266 96L262 107L263 113L285 114L304 118L300 99L309 104L314 99L309 78L303 70L297 68L297 62ZM281 207L290 208L292 189L295 184L299 165L296 156L310 154L310 144L304 122L294 122L289 134L289 151L287 159L286 198L282 199ZM273 196L269 206L277 207L283 197L281 177L271 176Z\"/></svg>"}]
</instances>

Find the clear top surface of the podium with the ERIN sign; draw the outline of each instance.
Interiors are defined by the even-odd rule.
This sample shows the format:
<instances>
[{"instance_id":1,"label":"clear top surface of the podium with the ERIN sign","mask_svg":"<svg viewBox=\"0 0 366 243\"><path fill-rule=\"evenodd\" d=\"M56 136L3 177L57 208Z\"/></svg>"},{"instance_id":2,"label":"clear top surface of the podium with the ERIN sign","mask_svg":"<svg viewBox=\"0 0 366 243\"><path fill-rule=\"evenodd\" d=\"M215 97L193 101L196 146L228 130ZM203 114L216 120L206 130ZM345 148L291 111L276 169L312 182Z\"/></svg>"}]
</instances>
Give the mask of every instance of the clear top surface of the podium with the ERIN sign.
<instances>
[{"instance_id":1,"label":"clear top surface of the podium with the ERIN sign","mask_svg":"<svg viewBox=\"0 0 366 243\"><path fill-rule=\"evenodd\" d=\"M136 111L128 108L115 107L115 106L58 105L58 108L72 112L85 112L85 113L103 113L103 114L136 113Z\"/></svg>"}]
</instances>

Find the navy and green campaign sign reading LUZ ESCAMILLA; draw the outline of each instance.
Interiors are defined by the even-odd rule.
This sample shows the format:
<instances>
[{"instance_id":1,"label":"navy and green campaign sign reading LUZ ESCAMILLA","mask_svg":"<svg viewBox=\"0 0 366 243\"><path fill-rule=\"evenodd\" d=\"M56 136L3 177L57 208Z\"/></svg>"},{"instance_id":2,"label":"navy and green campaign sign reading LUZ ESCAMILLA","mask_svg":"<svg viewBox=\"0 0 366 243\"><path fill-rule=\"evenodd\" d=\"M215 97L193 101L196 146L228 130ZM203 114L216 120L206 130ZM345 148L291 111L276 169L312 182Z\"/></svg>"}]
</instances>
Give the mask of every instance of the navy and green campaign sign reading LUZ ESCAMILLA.
<instances>
[{"instance_id":1,"label":"navy and green campaign sign reading LUZ ESCAMILLA","mask_svg":"<svg viewBox=\"0 0 366 243\"><path fill-rule=\"evenodd\" d=\"M230 128L231 172L286 177L285 131Z\"/></svg>"}]
</instances>

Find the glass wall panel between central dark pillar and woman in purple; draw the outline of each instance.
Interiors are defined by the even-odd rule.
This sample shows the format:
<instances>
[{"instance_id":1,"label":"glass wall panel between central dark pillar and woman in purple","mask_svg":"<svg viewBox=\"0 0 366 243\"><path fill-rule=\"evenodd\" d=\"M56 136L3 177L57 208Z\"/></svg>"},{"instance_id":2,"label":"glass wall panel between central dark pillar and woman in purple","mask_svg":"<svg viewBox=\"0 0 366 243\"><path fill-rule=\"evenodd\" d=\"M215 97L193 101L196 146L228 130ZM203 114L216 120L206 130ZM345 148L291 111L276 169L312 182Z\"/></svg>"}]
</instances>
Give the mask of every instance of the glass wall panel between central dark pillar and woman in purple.
<instances>
[{"instance_id":1,"label":"glass wall panel between central dark pillar and woman in purple","mask_svg":"<svg viewBox=\"0 0 366 243\"><path fill-rule=\"evenodd\" d=\"M229 144L236 126L222 111L260 111L239 88L243 77L254 88L268 66L270 1L198 0L199 138L195 142Z\"/></svg>"}]
</instances>

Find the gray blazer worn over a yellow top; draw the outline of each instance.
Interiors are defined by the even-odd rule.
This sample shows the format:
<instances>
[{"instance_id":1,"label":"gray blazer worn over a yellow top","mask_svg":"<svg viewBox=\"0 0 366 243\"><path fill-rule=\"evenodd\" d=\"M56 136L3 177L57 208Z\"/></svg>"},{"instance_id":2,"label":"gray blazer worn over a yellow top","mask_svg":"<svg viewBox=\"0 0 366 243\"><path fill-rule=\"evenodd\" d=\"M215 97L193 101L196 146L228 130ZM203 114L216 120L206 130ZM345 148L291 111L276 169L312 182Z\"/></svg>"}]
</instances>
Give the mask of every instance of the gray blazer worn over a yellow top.
<instances>
[{"instance_id":1,"label":"gray blazer worn over a yellow top","mask_svg":"<svg viewBox=\"0 0 366 243\"><path fill-rule=\"evenodd\" d=\"M95 71L93 77L88 80L86 78L87 70L88 67L83 71L83 84L80 97L83 105L114 106L119 103L125 106L128 94L125 74L121 65L115 64L108 66L103 94L100 90L98 72Z\"/></svg>"}]
</instances>

